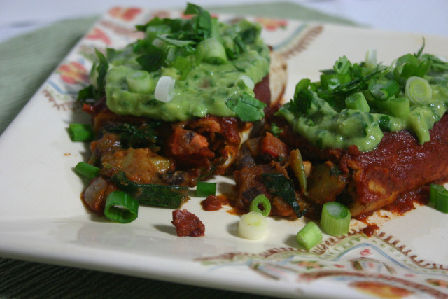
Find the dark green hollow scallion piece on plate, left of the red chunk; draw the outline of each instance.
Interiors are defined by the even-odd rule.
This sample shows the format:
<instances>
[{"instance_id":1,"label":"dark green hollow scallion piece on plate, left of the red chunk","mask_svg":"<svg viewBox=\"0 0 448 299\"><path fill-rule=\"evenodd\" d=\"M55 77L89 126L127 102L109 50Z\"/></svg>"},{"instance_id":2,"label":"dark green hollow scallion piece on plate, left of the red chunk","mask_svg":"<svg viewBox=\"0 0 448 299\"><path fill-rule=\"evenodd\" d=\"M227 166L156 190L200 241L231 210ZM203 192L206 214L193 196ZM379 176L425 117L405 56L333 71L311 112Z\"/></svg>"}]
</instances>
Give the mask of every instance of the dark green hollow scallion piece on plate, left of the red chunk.
<instances>
[{"instance_id":1,"label":"dark green hollow scallion piece on plate, left of the red chunk","mask_svg":"<svg viewBox=\"0 0 448 299\"><path fill-rule=\"evenodd\" d=\"M139 214L139 202L123 191L113 191L106 198L104 216L112 221L130 223Z\"/></svg>"}]
</instances>

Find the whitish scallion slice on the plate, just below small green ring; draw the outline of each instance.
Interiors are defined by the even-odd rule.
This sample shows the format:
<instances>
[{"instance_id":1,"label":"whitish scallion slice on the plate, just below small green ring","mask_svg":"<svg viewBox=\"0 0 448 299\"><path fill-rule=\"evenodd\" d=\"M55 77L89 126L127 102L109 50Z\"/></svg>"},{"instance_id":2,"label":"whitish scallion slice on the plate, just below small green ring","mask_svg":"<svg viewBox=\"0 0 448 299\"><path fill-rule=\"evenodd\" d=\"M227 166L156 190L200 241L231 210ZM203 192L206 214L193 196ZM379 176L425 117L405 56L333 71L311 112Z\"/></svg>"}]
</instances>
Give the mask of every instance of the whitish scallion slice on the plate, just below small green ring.
<instances>
[{"instance_id":1,"label":"whitish scallion slice on the plate, just below small green ring","mask_svg":"<svg viewBox=\"0 0 448 299\"><path fill-rule=\"evenodd\" d=\"M238 234L244 239L261 239L267 232L267 218L256 211L250 211L239 219Z\"/></svg>"}]
</instances>

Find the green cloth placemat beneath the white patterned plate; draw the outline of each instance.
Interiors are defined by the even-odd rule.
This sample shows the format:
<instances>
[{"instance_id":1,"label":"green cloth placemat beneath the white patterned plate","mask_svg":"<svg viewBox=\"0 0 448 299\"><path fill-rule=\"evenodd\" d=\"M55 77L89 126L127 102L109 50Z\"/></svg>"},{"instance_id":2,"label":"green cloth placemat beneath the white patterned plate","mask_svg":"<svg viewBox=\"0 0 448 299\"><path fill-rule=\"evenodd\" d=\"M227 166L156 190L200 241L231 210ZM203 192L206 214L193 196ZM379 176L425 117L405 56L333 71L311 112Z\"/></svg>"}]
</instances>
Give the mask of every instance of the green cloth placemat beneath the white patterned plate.
<instances>
[{"instance_id":1,"label":"green cloth placemat beneath the white patterned plate","mask_svg":"<svg viewBox=\"0 0 448 299\"><path fill-rule=\"evenodd\" d=\"M354 25L348 20L288 2L205 8L214 13ZM91 16L57 22L0 43L0 134L98 18ZM262 298L232 291L0 258L0 298L131 297Z\"/></svg>"}]
</instances>

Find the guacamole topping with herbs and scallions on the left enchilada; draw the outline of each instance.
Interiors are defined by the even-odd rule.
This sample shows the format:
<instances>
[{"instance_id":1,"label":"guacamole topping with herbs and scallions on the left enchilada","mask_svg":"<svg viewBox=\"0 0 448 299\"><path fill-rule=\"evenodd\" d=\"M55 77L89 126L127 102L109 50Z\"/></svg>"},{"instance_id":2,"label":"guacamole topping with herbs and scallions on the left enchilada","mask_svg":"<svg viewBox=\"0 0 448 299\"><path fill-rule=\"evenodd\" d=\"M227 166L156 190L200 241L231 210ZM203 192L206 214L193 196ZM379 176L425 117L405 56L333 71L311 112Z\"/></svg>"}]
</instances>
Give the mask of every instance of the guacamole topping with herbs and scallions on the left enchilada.
<instances>
[{"instance_id":1,"label":"guacamole topping with herbs and scallions on the left enchilada","mask_svg":"<svg viewBox=\"0 0 448 299\"><path fill-rule=\"evenodd\" d=\"M192 17L155 18L137 26L144 39L122 50L108 49L103 57L97 53L99 64L91 72L94 91L104 86L107 106L120 115L260 120L265 104L255 99L253 88L269 72L269 48L260 38L260 25L218 22L194 4L184 15Z\"/></svg>"}]
</instances>

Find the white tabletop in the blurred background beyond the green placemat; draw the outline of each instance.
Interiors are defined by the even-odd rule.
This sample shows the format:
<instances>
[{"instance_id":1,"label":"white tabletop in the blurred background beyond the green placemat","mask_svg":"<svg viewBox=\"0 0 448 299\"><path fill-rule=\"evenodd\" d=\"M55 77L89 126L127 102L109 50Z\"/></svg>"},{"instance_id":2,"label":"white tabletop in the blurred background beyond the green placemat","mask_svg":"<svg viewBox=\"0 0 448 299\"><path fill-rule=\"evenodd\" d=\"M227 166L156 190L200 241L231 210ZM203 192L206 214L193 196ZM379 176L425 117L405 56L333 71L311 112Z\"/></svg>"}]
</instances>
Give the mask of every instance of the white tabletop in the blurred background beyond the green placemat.
<instances>
[{"instance_id":1,"label":"white tabletop in the blurred background beyond the green placemat","mask_svg":"<svg viewBox=\"0 0 448 299\"><path fill-rule=\"evenodd\" d=\"M323 13L337 15L373 29L448 36L448 0L293 0ZM241 0L197 0L200 6L241 4ZM244 4L272 2L246 0ZM71 18L102 15L113 6L183 9L181 0L1 0L0 42Z\"/></svg>"}]
</instances>

